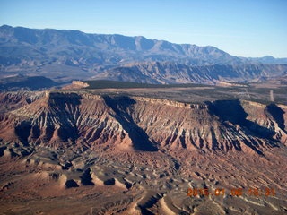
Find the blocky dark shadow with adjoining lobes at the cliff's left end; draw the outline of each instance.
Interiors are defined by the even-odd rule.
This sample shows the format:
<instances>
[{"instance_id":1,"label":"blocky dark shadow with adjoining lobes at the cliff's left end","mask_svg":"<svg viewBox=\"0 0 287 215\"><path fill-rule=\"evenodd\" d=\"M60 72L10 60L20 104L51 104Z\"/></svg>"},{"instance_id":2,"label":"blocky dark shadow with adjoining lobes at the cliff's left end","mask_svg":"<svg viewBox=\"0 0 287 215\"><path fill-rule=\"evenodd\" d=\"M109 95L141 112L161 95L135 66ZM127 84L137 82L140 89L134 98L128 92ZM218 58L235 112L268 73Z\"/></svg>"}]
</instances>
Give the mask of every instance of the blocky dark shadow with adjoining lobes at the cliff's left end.
<instances>
[{"instance_id":1,"label":"blocky dark shadow with adjoining lobes at the cliff's left end","mask_svg":"<svg viewBox=\"0 0 287 215\"><path fill-rule=\"evenodd\" d=\"M78 106L81 104L82 97L76 93L52 92L48 94L48 112L42 112L39 117L47 118L45 125L36 124L32 120L23 121L15 125L14 131L23 145L29 145L30 139L37 140L42 133L44 142L49 142L55 131L57 136L64 142L74 142L79 137L79 132L75 122L76 115L79 114ZM43 129L43 130L42 130Z\"/></svg>"}]
</instances>

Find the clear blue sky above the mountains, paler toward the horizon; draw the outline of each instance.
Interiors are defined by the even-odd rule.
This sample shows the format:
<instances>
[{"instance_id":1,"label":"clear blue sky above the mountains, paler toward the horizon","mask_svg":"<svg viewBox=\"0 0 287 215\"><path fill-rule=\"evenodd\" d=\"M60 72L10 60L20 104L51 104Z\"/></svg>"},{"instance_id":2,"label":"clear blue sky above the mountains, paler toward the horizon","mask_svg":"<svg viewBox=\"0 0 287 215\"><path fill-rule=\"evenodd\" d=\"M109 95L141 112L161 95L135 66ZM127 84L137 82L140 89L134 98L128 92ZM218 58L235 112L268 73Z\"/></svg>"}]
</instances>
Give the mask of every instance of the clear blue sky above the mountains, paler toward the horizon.
<instances>
[{"instance_id":1,"label":"clear blue sky above the mountains, paler toward the horizon","mask_svg":"<svg viewBox=\"0 0 287 215\"><path fill-rule=\"evenodd\" d=\"M82 30L287 57L287 0L0 0L0 25Z\"/></svg>"}]
</instances>

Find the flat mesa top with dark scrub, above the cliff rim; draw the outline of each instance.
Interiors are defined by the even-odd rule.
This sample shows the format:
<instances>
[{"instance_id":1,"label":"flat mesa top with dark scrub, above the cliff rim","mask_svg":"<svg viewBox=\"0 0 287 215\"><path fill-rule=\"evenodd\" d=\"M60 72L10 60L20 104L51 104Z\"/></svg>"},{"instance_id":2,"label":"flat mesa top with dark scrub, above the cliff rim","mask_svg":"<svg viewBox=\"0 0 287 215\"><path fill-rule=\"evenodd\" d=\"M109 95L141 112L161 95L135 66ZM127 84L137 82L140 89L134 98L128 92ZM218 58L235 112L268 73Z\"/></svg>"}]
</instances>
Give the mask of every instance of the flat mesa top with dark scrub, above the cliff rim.
<instances>
[{"instance_id":1,"label":"flat mesa top with dark scrub, above the cliff rim","mask_svg":"<svg viewBox=\"0 0 287 215\"><path fill-rule=\"evenodd\" d=\"M99 95L126 95L202 103L218 99L245 99L287 105L287 85L272 83L147 84L116 81L84 81L81 90Z\"/></svg>"}]
</instances>

